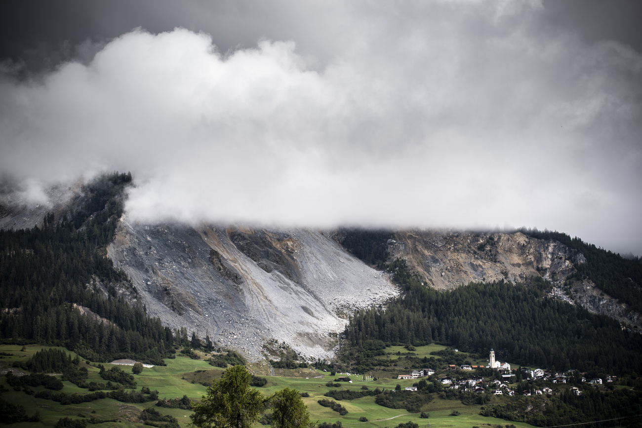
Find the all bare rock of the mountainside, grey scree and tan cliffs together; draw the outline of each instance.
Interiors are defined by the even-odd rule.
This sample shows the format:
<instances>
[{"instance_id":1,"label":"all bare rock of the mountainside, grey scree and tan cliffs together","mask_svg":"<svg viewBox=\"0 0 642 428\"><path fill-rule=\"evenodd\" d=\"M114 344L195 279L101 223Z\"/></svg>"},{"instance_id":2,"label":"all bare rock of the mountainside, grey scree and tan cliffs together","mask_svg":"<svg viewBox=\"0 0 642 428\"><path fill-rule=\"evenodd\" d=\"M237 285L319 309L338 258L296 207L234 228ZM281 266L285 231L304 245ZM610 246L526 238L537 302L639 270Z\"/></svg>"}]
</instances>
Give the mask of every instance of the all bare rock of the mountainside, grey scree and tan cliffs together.
<instances>
[{"instance_id":1,"label":"all bare rock of the mountainside, grey scree and tan cliffs together","mask_svg":"<svg viewBox=\"0 0 642 428\"><path fill-rule=\"evenodd\" d=\"M58 219L86 199L80 185L51 189L48 195L46 205L37 207L5 192L0 227L43 225L48 210L59 213ZM642 329L638 311L581 274L591 270L578 248L522 232L143 225L124 214L106 255L135 286L135 291L120 287L119 294L131 304L143 304L164 325L195 331L201 338L209 334L250 359L260 359L262 345L272 339L314 359L334 355L337 333L351 313L385 305L399 294L388 274L356 259L341 243L373 266L405 260L422 286L439 290L542 277L553 284L551 296ZM632 287L639 291L638 284Z\"/></svg>"}]
</instances>

